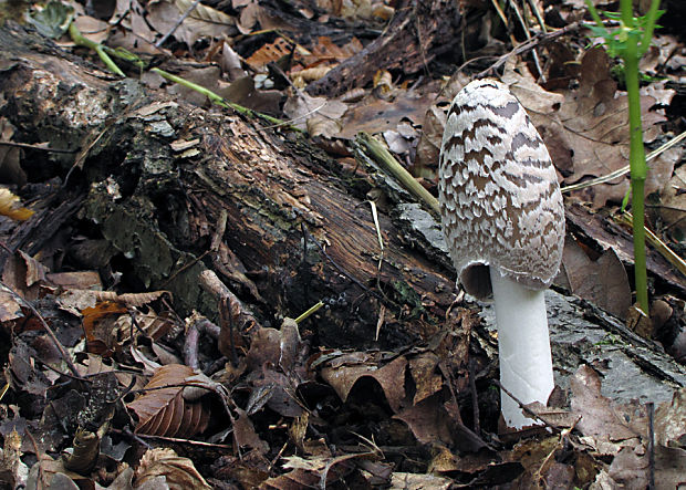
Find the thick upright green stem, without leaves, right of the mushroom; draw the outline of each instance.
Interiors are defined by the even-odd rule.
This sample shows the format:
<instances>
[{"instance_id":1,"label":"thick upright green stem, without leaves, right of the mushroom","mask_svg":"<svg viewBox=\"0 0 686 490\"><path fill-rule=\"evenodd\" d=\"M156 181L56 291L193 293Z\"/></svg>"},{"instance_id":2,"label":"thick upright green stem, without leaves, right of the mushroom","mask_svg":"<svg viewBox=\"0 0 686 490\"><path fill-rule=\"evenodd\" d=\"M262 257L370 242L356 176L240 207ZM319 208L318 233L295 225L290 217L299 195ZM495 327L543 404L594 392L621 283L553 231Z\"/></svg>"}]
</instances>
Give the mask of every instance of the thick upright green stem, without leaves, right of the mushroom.
<instances>
[{"instance_id":1,"label":"thick upright green stem, without leaves, right of the mushroom","mask_svg":"<svg viewBox=\"0 0 686 490\"><path fill-rule=\"evenodd\" d=\"M632 0L621 0L622 21L634 28ZM630 167L632 183L632 211L634 217L634 278L638 307L648 314L647 273L645 267L644 188L647 175L641 126L641 94L638 92L638 37L628 35L624 59L624 76L628 98Z\"/></svg>"}]
</instances>

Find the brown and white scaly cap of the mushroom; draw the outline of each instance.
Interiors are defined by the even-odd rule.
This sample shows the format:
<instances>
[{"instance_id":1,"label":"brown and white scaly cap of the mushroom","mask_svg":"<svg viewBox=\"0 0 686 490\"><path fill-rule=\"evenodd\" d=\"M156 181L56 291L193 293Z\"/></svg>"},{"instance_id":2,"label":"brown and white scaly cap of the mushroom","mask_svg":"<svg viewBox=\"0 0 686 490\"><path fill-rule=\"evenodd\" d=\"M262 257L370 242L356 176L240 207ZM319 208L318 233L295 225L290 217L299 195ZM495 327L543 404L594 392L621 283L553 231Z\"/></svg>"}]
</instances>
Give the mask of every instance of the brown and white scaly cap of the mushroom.
<instances>
[{"instance_id":1,"label":"brown and white scaly cap of the mushroom","mask_svg":"<svg viewBox=\"0 0 686 490\"><path fill-rule=\"evenodd\" d=\"M489 267L548 288L562 260L562 195L541 136L506 85L477 80L455 96L438 174L443 230L467 293L491 295Z\"/></svg>"}]
</instances>

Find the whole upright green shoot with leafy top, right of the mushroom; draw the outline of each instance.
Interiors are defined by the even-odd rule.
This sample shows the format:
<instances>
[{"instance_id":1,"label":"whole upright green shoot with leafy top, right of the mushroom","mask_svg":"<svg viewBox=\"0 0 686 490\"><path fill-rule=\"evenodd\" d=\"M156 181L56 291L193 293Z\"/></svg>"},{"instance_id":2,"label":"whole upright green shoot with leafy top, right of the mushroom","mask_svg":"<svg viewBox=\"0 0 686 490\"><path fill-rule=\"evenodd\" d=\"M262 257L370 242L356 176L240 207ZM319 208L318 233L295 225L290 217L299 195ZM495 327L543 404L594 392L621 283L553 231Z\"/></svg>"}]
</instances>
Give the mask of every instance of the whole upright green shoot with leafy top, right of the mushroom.
<instances>
[{"instance_id":1,"label":"whole upright green shoot with leafy top, right of the mushroom","mask_svg":"<svg viewBox=\"0 0 686 490\"><path fill-rule=\"evenodd\" d=\"M621 0L621 12L605 12L605 17L620 22L620 27L610 30L591 0L586 0L589 11L595 21L591 27L593 34L605 40L607 53L624 61L624 80L628 97L630 167L634 228L634 277L636 282L636 301L638 307L648 314L647 273L645 268L645 221L644 188L647 175L645 150L643 147L643 128L641 125L641 95L638 93L638 61L645 54L653 39L657 19L663 11L659 0L653 0L647 14L634 17L632 0Z\"/></svg>"}]
</instances>

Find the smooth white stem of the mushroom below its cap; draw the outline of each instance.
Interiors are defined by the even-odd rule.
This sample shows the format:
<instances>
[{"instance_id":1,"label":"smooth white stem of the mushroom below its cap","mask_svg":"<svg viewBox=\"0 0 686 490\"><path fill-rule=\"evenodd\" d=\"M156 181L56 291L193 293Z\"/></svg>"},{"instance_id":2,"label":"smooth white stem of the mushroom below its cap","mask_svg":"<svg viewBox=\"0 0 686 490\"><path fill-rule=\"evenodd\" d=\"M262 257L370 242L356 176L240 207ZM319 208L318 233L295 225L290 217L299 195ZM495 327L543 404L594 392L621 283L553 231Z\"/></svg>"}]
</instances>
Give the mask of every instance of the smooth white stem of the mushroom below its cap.
<instances>
[{"instance_id":1,"label":"smooth white stem of the mushroom below its cap","mask_svg":"<svg viewBox=\"0 0 686 490\"><path fill-rule=\"evenodd\" d=\"M536 291L503 277L490 267L493 306L498 325L500 384L519 402L548 402L553 387L552 358L548 335L544 291ZM507 427L540 424L524 416L517 402L500 392Z\"/></svg>"}]
</instances>

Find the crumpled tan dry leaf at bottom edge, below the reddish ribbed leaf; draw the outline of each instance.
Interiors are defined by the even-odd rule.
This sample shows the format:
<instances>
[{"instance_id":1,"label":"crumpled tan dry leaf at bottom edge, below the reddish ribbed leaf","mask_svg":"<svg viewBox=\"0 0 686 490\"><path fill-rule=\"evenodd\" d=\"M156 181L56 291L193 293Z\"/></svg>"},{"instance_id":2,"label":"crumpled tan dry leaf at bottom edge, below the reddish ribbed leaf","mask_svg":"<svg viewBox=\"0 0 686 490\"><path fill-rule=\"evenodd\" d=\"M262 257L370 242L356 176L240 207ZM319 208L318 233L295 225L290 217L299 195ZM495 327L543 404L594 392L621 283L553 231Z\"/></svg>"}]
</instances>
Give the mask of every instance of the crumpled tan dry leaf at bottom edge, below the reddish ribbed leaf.
<instances>
[{"instance_id":1,"label":"crumpled tan dry leaf at bottom edge, below the reddish ribbed leaf","mask_svg":"<svg viewBox=\"0 0 686 490\"><path fill-rule=\"evenodd\" d=\"M169 448L148 449L141 458L141 465L136 469L134 478L135 488L150 482L156 484L162 479L162 483L166 483L172 490L211 489L190 459L177 456Z\"/></svg>"}]
</instances>

